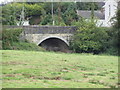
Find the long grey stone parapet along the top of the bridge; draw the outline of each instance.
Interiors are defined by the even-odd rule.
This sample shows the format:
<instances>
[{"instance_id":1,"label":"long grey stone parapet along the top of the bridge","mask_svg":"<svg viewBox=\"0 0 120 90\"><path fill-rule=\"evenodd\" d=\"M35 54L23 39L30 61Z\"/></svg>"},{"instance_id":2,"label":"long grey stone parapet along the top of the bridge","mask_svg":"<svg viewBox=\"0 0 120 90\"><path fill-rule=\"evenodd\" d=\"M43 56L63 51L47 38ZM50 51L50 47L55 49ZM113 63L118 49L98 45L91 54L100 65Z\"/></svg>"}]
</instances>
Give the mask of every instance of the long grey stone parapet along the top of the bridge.
<instances>
[{"instance_id":1,"label":"long grey stone parapet along the top of the bridge","mask_svg":"<svg viewBox=\"0 0 120 90\"><path fill-rule=\"evenodd\" d=\"M25 34L73 34L76 31L75 26L3 26L5 28L23 28Z\"/></svg>"}]
</instances>

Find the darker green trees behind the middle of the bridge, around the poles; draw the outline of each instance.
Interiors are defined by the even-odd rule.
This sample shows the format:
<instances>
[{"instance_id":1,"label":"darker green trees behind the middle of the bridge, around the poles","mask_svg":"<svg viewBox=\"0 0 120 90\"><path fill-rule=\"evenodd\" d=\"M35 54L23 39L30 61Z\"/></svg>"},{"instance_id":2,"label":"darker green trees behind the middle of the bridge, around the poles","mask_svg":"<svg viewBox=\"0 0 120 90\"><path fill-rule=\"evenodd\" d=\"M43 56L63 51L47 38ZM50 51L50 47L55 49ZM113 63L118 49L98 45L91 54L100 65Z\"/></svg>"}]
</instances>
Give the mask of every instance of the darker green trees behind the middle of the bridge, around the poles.
<instances>
[{"instance_id":1,"label":"darker green trees behind the middle of the bridge, around the poles","mask_svg":"<svg viewBox=\"0 0 120 90\"><path fill-rule=\"evenodd\" d=\"M60 26L61 25L71 25L72 22L78 19L76 13L76 5L75 3L53 3L53 12L54 12L54 21L55 25L59 25L58 23L58 7L60 7ZM45 14L41 16L41 25L52 25L52 3L44 4Z\"/></svg>"}]
</instances>

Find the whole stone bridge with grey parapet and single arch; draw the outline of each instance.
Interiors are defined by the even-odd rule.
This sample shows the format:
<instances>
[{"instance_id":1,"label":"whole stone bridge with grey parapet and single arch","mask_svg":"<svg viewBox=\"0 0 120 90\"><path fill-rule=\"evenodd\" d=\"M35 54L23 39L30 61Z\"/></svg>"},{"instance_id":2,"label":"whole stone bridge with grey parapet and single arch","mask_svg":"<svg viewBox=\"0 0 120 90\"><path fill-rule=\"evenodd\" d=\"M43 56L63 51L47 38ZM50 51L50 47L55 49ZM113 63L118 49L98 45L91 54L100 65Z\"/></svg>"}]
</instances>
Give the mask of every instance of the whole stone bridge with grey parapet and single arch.
<instances>
[{"instance_id":1,"label":"whole stone bridge with grey parapet and single arch","mask_svg":"<svg viewBox=\"0 0 120 90\"><path fill-rule=\"evenodd\" d=\"M30 43L35 43L50 51L64 51L68 49L71 36L76 30L74 26L16 26L16 28L17 27L23 28L21 39L26 39Z\"/></svg>"}]
</instances>

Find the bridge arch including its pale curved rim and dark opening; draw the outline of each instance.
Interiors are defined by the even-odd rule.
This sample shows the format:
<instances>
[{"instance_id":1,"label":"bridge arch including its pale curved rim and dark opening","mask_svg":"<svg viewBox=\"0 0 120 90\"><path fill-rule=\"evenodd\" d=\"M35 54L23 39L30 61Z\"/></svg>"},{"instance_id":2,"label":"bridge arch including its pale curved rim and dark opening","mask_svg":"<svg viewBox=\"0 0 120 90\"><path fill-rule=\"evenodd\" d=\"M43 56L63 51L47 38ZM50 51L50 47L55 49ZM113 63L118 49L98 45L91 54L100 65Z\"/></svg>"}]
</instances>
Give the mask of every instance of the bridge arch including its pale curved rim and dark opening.
<instances>
[{"instance_id":1,"label":"bridge arch including its pale curved rim and dark opening","mask_svg":"<svg viewBox=\"0 0 120 90\"><path fill-rule=\"evenodd\" d=\"M69 47L69 42L66 39L58 36L48 36L40 40L39 46L49 51L66 51Z\"/></svg>"}]
</instances>

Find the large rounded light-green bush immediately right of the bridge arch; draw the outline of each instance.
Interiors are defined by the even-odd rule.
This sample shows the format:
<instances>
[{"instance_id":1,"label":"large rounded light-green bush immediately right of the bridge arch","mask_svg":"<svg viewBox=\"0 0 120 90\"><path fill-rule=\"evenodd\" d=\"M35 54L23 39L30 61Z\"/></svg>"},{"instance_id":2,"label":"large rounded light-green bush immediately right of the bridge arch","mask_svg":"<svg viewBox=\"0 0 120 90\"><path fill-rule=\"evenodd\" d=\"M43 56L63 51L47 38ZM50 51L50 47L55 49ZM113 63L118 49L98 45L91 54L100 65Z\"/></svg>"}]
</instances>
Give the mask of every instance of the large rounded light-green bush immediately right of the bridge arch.
<instances>
[{"instance_id":1,"label":"large rounded light-green bush immediately right of the bridge arch","mask_svg":"<svg viewBox=\"0 0 120 90\"><path fill-rule=\"evenodd\" d=\"M94 20L84 20L76 23L77 32L71 41L71 49L77 53L98 54L107 48L108 34L102 27L96 27Z\"/></svg>"}]
</instances>

